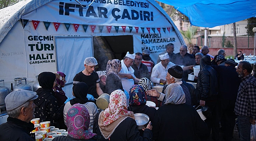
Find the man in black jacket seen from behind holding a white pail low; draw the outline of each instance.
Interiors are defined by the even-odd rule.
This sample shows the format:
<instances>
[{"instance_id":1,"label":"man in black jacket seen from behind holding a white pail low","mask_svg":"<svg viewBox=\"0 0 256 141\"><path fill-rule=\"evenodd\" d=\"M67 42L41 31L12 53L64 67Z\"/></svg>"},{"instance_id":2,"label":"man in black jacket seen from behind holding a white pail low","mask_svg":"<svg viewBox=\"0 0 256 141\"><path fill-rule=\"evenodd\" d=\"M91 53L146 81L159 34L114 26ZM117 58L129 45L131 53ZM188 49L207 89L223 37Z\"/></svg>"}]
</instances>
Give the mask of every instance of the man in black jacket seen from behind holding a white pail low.
<instances>
[{"instance_id":1,"label":"man in black jacket seen from behind holding a white pail low","mask_svg":"<svg viewBox=\"0 0 256 141\"><path fill-rule=\"evenodd\" d=\"M218 79L217 72L211 67L211 58L206 55L200 60L200 72L197 79L196 94L200 106L209 107L211 115L206 116L206 124L208 125L208 135L201 137L204 141L210 137L212 128L213 139L218 140L219 134L216 130L219 128L217 118L217 97L218 97Z\"/></svg>"}]
</instances>

